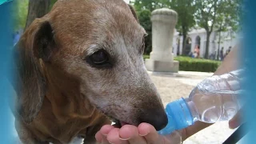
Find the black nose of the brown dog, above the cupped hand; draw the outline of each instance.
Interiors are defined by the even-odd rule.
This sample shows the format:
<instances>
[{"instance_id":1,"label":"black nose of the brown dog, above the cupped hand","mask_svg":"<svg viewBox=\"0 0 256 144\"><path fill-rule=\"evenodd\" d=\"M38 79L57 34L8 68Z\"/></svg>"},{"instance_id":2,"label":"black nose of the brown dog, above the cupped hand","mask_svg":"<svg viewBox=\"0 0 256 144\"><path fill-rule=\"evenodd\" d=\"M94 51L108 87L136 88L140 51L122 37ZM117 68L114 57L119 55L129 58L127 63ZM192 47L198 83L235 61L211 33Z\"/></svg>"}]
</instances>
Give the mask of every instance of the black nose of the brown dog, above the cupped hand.
<instances>
[{"instance_id":1,"label":"black nose of the brown dog, above the cupped hand","mask_svg":"<svg viewBox=\"0 0 256 144\"><path fill-rule=\"evenodd\" d=\"M140 118L141 122L150 123L156 130L162 130L168 123L165 110L146 110Z\"/></svg>"}]
</instances>

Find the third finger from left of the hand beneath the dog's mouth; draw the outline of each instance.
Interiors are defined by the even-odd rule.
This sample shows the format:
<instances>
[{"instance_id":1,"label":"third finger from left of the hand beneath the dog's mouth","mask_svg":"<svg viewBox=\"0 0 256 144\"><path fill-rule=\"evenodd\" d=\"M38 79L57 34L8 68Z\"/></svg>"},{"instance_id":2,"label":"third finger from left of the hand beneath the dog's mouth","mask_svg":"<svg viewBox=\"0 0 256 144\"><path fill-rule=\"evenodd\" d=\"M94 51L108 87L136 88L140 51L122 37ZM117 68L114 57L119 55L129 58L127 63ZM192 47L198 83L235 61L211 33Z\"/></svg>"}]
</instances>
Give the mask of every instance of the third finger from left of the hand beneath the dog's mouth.
<instances>
[{"instance_id":1,"label":"third finger from left of the hand beneath the dog's mouth","mask_svg":"<svg viewBox=\"0 0 256 144\"><path fill-rule=\"evenodd\" d=\"M138 127L125 125L119 131L119 137L123 141L128 141L130 144L146 144L145 138L138 134Z\"/></svg>"}]
</instances>

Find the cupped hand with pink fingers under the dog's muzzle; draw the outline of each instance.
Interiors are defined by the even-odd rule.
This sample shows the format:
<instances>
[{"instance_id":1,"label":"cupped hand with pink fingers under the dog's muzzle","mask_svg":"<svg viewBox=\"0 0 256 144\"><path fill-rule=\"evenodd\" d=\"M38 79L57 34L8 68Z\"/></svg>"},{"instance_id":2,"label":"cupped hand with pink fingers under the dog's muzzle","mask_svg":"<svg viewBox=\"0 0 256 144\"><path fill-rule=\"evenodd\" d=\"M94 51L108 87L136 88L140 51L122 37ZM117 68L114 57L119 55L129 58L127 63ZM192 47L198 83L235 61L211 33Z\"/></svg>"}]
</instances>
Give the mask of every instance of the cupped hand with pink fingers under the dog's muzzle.
<instances>
[{"instance_id":1,"label":"cupped hand with pink fingers under the dog's muzzle","mask_svg":"<svg viewBox=\"0 0 256 144\"><path fill-rule=\"evenodd\" d=\"M159 135L154 126L141 123L138 127L122 126L120 129L105 125L95 138L100 144L180 144L182 137L178 132L170 135Z\"/></svg>"}]
</instances>

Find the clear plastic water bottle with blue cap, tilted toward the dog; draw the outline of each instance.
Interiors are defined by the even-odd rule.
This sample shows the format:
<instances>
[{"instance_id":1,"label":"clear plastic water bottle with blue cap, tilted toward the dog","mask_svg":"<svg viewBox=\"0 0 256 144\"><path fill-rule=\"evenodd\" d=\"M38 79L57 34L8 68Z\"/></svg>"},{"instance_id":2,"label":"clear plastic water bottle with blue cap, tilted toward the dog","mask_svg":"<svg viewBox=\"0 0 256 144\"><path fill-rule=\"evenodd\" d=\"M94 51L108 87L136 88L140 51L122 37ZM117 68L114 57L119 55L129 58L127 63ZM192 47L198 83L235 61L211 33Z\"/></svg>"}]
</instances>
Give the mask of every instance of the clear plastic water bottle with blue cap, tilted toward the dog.
<instances>
[{"instance_id":1,"label":"clear plastic water bottle with blue cap, tilted toward the dog","mask_svg":"<svg viewBox=\"0 0 256 144\"><path fill-rule=\"evenodd\" d=\"M170 102L166 106L168 124L158 134L171 134L196 121L214 123L233 118L242 105L238 95L242 93L243 71L234 70L206 78L191 91L189 98Z\"/></svg>"}]
</instances>

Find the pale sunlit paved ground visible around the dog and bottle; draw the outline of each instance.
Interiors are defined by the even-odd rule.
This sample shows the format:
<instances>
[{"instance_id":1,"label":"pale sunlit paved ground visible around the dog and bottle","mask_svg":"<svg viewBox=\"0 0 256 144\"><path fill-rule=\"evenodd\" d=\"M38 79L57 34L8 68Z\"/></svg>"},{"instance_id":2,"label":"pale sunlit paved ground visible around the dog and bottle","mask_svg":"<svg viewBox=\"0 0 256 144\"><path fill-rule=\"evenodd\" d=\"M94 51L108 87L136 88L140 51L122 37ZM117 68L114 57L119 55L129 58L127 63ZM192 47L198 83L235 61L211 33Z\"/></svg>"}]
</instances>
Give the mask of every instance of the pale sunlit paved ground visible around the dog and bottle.
<instances>
[{"instance_id":1,"label":"pale sunlit paved ground visible around the dog and bottle","mask_svg":"<svg viewBox=\"0 0 256 144\"><path fill-rule=\"evenodd\" d=\"M168 102L172 102L181 97L187 97L190 90L201 82L204 78L208 78L212 73L185 72L180 71L179 74L152 74L150 73L155 86L158 88L163 103L166 106ZM218 122L213 126L206 128L188 138L184 144L221 144L232 134L234 130L228 128L227 122ZM79 144L80 142L74 142Z\"/></svg>"}]
</instances>

